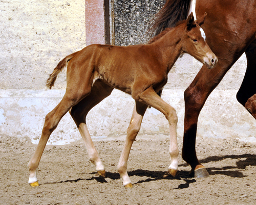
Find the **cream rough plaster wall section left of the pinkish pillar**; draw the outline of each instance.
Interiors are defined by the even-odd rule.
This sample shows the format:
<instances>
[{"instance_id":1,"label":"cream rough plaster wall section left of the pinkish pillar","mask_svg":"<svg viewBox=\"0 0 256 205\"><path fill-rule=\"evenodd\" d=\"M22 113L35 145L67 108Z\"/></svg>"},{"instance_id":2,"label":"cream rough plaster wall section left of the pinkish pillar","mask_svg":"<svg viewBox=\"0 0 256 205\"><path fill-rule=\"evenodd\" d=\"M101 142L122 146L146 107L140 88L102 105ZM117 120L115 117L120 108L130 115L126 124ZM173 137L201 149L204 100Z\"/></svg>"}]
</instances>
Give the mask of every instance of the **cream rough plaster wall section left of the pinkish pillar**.
<instances>
[{"instance_id":1,"label":"cream rough plaster wall section left of the pinkish pillar","mask_svg":"<svg viewBox=\"0 0 256 205\"><path fill-rule=\"evenodd\" d=\"M56 64L85 45L84 1L1 1L0 89L44 89ZM55 89L65 89L63 75Z\"/></svg>"}]
</instances>

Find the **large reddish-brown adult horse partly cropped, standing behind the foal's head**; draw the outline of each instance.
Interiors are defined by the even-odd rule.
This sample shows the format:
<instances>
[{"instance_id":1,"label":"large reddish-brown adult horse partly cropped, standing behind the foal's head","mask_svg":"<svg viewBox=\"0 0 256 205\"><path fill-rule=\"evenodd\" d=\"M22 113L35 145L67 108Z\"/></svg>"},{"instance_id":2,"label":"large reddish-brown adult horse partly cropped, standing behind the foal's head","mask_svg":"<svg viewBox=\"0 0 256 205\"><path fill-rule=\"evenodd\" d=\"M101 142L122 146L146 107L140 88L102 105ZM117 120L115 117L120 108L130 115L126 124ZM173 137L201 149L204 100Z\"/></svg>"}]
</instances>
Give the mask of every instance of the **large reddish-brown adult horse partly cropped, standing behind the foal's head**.
<instances>
[{"instance_id":1,"label":"large reddish-brown adult horse partly cropped, standing behind the foal's head","mask_svg":"<svg viewBox=\"0 0 256 205\"><path fill-rule=\"evenodd\" d=\"M190 0L167 0L159 11L153 29L158 34L177 21L185 19ZM182 158L191 166L190 174L207 177L209 174L196 155L198 117L212 90L220 83L231 66L245 52L247 69L237 93L238 101L256 118L256 1L255 0L197 0L196 16L207 13L202 28L206 42L219 59L215 69L204 65L184 92L185 120Z\"/></svg>"}]
</instances>

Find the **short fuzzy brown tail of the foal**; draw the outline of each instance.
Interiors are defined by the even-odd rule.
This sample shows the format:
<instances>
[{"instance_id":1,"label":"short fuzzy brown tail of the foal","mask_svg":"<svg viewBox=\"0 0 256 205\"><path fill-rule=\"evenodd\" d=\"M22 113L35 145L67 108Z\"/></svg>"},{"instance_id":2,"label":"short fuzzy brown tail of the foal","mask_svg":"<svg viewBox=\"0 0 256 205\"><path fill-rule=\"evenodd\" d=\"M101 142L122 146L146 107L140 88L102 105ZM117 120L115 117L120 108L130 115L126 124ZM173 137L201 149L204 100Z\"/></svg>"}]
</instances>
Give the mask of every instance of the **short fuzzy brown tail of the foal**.
<instances>
[{"instance_id":1,"label":"short fuzzy brown tail of the foal","mask_svg":"<svg viewBox=\"0 0 256 205\"><path fill-rule=\"evenodd\" d=\"M54 68L52 74L50 74L49 76L49 79L47 80L46 82L46 86L51 89L52 86L54 85L55 81L56 81L56 78L57 78L57 75L61 72L61 70L63 68L65 68L68 64L68 62L77 54L78 52L76 53L73 53L73 54L70 54L69 56L66 56L62 61L60 61L58 63L58 65L56 66L56 68Z\"/></svg>"}]
</instances>

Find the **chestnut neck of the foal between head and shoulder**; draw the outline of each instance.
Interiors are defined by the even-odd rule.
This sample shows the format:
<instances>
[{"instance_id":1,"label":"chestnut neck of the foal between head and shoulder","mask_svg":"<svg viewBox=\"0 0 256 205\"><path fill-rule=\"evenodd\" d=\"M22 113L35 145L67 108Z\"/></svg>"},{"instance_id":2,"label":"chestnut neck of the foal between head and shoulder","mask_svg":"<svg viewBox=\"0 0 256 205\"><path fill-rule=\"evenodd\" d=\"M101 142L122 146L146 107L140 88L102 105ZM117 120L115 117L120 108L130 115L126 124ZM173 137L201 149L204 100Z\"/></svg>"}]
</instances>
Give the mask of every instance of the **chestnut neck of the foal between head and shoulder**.
<instances>
[{"instance_id":1,"label":"chestnut neck of the foal between head and shoulder","mask_svg":"<svg viewBox=\"0 0 256 205\"><path fill-rule=\"evenodd\" d=\"M162 63L167 65L168 72L183 53L182 36L184 34L184 27L179 25L152 43L158 55L161 56Z\"/></svg>"}]
</instances>

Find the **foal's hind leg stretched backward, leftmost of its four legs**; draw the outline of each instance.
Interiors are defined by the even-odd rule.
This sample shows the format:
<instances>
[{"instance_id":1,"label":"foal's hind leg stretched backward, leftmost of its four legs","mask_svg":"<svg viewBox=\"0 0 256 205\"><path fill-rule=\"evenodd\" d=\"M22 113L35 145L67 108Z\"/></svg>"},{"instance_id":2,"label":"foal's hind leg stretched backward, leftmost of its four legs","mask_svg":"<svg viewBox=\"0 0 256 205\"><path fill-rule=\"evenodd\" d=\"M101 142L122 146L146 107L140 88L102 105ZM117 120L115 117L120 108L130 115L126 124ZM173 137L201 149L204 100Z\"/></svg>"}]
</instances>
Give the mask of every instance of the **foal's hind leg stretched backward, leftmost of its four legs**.
<instances>
[{"instance_id":1,"label":"foal's hind leg stretched backward, leftmost of its four legs","mask_svg":"<svg viewBox=\"0 0 256 205\"><path fill-rule=\"evenodd\" d=\"M34 155L28 163L29 167L29 184L31 186L38 186L36 170L39 165L39 161L42 156L42 152L45 149L46 143L56 129L60 119L82 98L86 97L91 92L93 83L93 66L86 67L84 69L76 69L75 67L69 67L67 70L67 90L59 104L50 113L46 115L45 124L42 129L42 134L39 143L36 147ZM79 87L77 87L79 86Z\"/></svg>"}]
</instances>

